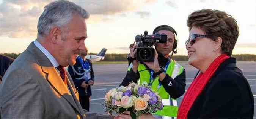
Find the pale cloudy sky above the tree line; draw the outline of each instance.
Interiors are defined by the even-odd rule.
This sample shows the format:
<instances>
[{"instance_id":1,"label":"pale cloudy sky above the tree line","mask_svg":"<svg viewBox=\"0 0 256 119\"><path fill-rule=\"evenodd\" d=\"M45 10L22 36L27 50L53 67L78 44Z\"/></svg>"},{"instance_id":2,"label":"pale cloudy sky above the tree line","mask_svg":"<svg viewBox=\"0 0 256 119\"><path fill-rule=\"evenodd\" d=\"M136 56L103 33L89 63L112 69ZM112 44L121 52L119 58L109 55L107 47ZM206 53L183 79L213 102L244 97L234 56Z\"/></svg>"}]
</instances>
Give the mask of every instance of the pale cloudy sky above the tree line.
<instances>
[{"instance_id":1,"label":"pale cloudy sky above the tree line","mask_svg":"<svg viewBox=\"0 0 256 119\"><path fill-rule=\"evenodd\" d=\"M36 39L38 18L52 0L0 0L0 53L22 53ZM240 35L233 54L256 54L256 0L70 0L90 13L88 52L129 53L129 44L145 30L169 25L177 31L176 55L187 55L188 15L218 9L233 16Z\"/></svg>"}]
</instances>

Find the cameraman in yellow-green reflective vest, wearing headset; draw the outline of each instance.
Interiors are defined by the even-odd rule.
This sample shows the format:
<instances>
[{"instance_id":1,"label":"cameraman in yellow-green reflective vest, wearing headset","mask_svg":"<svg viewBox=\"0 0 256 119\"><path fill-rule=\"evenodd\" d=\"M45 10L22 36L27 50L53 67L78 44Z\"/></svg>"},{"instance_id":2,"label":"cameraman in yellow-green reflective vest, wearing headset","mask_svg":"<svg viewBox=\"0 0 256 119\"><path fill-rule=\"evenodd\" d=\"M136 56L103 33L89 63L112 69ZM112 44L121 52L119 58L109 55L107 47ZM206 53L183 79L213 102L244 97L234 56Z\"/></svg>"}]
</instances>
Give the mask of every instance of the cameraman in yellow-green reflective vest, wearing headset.
<instances>
[{"instance_id":1,"label":"cameraman in yellow-green reflective vest, wearing headset","mask_svg":"<svg viewBox=\"0 0 256 119\"><path fill-rule=\"evenodd\" d=\"M158 92L164 105L163 110L157 111L155 116L171 119L171 117L177 117L178 107L175 99L185 92L185 69L171 58L173 53L177 53L177 39L174 36L176 31L170 26L161 25L154 29L153 34L155 33L166 34L167 41L154 44L154 62L137 61L136 45L130 47L128 60L131 64L120 86L127 86L132 81L138 84L146 81L152 86L153 91Z\"/></svg>"}]
</instances>

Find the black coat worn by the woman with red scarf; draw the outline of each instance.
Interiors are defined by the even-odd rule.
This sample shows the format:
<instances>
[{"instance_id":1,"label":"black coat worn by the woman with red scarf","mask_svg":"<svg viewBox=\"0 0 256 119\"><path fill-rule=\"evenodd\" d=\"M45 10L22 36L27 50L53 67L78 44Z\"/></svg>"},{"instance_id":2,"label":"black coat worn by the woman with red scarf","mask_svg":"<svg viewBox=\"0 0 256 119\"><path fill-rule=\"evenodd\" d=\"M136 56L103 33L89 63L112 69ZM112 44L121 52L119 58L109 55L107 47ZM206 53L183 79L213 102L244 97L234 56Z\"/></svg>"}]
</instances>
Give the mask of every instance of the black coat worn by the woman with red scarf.
<instances>
[{"instance_id":1,"label":"black coat worn by the woman with red scarf","mask_svg":"<svg viewBox=\"0 0 256 119\"><path fill-rule=\"evenodd\" d=\"M235 58L220 64L188 111L188 119L253 118L254 98Z\"/></svg>"}]
</instances>

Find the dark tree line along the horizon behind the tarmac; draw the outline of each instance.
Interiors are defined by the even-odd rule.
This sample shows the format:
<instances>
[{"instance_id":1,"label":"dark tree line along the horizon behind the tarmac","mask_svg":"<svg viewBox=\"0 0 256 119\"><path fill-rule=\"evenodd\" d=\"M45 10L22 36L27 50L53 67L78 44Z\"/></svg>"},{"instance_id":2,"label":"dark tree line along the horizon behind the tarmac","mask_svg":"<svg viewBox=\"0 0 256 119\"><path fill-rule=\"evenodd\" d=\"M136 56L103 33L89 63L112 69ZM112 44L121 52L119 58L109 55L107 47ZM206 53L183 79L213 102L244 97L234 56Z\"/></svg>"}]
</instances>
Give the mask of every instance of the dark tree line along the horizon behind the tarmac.
<instances>
[{"instance_id":1,"label":"dark tree line along the horizon behind the tarmac","mask_svg":"<svg viewBox=\"0 0 256 119\"><path fill-rule=\"evenodd\" d=\"M20 53L3 53L3 55L16 59L20 55ZM90 55L96 54L90 53ZM106 54L103 61L127 61L127 55L128 54ZM232 55L232 57L236 58L237 61L256 61L256 55L251 54ZM173 55L173 59L176 61L188 61L188 56Z\"/></svg>"}]
</instances>

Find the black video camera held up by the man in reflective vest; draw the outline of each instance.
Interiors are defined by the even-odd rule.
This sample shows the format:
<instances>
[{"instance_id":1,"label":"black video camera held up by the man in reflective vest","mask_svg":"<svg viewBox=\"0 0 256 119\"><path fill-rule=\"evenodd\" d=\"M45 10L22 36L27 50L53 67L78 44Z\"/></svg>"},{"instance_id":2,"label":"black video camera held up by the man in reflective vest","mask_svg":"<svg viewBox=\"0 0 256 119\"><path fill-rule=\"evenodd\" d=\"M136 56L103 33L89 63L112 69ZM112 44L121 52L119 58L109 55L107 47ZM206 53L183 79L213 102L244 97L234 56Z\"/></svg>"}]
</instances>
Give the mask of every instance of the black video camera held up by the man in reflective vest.
<instances>
[{"instance_id":1,"label":"black video camera held up by the man in reflective vest","mask_svg":"<svg viewBox=\"0 0 256 119\"><path fill-rule=\"evenodd\" d=\"M152 62L155 58L155 50L152 47L154 43L166 43L166 34L148 35L148 31L144 31L144 35L136 35L137 44L136 60L143 62Z\"/></svg>"}]
</instances>

